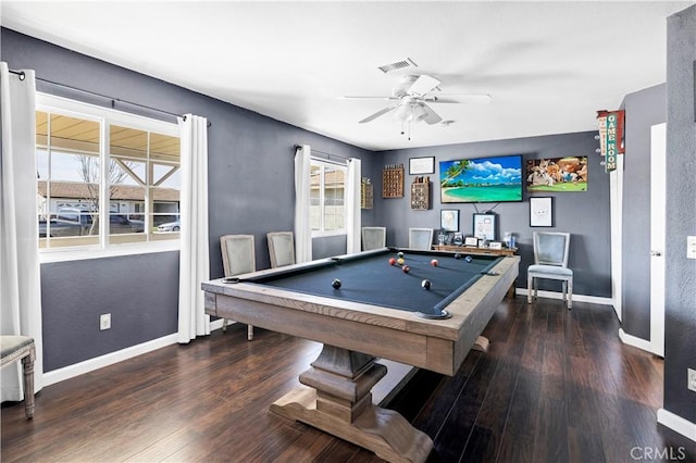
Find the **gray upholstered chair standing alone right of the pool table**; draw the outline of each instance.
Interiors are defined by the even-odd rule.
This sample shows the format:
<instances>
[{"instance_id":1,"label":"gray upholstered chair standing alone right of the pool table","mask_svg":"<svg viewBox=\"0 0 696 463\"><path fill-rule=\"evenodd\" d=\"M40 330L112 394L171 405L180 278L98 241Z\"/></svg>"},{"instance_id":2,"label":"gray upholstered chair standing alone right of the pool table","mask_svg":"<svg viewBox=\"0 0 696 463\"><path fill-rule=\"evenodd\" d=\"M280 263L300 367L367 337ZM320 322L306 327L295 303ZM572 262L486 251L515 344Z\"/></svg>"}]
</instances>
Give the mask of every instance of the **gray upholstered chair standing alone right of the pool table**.
<instances>
[{"instance_id":1,"label":"gray upholstered chair standing alone right of the pool table","mask_svg":"<svg viewBox=\"0 0 696 463\"><path fill-rule=\"evenodd\" d=\"M534 265L526 270L527 303L536 299L537 279L545 278L562 281L563 302L568 299L568 309L573 306L573 271L568 268L569 249L569 233L534 233Z\"/></svg>"}]
</instances>

